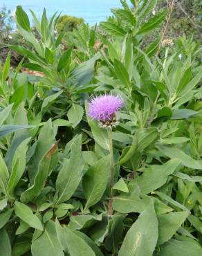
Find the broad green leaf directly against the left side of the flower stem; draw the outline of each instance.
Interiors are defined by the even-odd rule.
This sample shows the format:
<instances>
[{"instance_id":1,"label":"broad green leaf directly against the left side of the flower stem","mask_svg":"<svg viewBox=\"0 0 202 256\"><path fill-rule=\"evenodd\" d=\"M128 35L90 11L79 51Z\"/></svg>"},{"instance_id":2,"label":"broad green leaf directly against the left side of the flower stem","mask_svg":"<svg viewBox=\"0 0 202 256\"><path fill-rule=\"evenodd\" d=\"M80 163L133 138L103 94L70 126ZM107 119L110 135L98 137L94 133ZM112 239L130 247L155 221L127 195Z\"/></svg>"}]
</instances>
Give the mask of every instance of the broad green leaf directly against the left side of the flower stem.
<instances>
[{"instance_id":1,"label":"broad green leaf directly against the left side of the flower stem","mask_svg":"<svg viewBox=\"0 0 202 256\"><path fill-rule=\"evenodd\" d=\"M86 209L100 201L107 188L109 173L110 158L109 156L104 156L92 165L84 175L83 189L86 197Z\"/></svg>"}]
</instances>

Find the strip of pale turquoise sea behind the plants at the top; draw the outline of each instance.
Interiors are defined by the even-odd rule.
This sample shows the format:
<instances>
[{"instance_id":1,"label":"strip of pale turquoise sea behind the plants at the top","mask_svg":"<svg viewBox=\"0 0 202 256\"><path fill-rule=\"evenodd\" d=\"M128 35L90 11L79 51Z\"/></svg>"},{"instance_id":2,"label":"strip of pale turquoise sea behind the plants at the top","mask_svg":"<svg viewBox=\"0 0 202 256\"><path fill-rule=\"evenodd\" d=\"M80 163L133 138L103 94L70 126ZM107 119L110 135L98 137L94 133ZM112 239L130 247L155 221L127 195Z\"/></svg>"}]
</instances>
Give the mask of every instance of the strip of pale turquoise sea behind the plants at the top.
<instances>
[{"instance_id":1,"label":"strip of pale turquoise sea behind the plants at the top","mask_svg":"<svg viewBox=\"0 0 202 256\"><path fill-rule=\"evenodd\" d=\"M93 25L106 20L111 15L111 8L118 8L121 4L119 0L0 0L0 8L3 6L12 12L15 12L16 6L22 6L27 13L31 9L38 18L42 17L46 8L48 18L59 11L63 15L82 17ZM30 13L28 16L31 18Z\"/></svg>"}]
</instances>

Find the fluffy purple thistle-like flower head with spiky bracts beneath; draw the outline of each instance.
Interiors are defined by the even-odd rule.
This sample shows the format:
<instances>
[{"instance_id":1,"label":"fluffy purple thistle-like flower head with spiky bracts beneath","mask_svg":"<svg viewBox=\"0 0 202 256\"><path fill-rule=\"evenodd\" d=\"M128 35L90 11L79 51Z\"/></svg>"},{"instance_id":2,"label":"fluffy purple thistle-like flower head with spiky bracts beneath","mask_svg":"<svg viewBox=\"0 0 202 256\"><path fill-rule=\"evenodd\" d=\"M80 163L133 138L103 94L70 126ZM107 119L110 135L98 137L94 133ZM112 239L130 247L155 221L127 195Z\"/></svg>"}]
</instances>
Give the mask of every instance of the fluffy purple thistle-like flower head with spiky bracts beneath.
<instances>
[{"instance_id":1,"label":"fluffy purple thistle-like flower head with spiky bracts beneath","mask_svg":"<svg viewBox=\"0 0 202 256\"><path fill-rule=\"evenodd\" d=\"M117 125L116 113L122 105L123 101L118 96L100 95L89 101L89 117L99 121L101 127L114 127Z\"/></svg>"}]
</instances>

